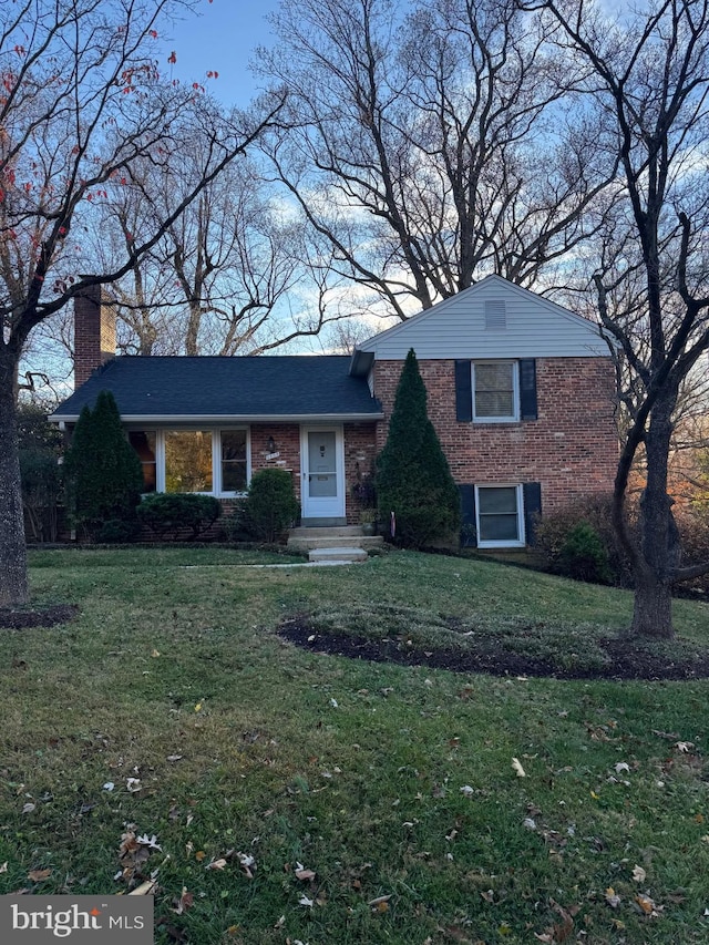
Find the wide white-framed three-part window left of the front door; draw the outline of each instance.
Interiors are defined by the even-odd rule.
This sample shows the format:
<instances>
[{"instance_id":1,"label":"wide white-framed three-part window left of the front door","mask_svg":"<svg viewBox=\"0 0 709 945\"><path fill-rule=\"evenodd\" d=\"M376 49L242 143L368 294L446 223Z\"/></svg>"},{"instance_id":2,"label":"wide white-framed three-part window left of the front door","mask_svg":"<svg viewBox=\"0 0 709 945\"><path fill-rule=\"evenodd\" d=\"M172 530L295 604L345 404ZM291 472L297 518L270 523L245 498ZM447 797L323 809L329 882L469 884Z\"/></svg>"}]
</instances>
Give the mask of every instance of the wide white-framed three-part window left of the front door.
<instances>
[{"instance_id":1,"label":"wide white-framed three-part window left of the front door","mask_svg":"<svg viewBox=\"0 0 709 945\"><path fill-rule=\"evenodd\" d=\"M130 430L143 465L145 492L243 495L250 479L249 430L245 427Z\"/></svg>"}]
</instances>

